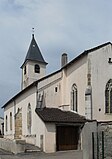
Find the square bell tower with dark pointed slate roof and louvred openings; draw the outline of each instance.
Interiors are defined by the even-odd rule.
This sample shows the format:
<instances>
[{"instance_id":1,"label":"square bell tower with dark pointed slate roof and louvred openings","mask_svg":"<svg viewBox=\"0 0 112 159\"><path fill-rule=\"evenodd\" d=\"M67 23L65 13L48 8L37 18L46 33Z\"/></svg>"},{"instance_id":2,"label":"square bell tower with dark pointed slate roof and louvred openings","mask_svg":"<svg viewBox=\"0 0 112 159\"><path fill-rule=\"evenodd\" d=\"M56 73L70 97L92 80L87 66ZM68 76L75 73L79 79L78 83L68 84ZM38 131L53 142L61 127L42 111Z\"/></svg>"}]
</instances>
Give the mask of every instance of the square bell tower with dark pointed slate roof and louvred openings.
<instances>
[{"instance_id":1,"label":"square bell tower with dark pointed slate roof and louvred openings","mask_svg":"<svg viewBox=\"0 0 112 159\"><path fill-rule=\"evenodd\" d=\"M34 81L42 78L46 74L46 65L41 51L37 45L34 34L26 55L26 58L21 66L22 69L22 83L21 89L28 87Z\"/></svg>"}]
</instances>

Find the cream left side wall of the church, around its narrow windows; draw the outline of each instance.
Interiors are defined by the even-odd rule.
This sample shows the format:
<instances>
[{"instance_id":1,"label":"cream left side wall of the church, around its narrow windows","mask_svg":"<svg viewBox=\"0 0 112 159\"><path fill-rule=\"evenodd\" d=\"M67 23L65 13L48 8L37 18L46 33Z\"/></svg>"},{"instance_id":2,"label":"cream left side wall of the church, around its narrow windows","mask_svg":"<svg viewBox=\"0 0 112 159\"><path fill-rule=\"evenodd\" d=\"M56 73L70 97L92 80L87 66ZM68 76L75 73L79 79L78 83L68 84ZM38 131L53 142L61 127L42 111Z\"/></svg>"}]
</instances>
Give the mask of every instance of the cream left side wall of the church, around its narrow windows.
<instances>
[{"instance_id":1,"label":"cream left side wall of the church, around its narrow windows","mask_svg":"<svg viewBox=\"0 0 112 159\"><path fill-rule=\"evenodd\" d=\"M27 128L27 108L31 105L31 133ZM35 142L35 108L36 108L36 87L30 88L28 91L22 93L14 101L7 105L4 110L4 136L5 138L14 138L15 134L15 114L18 109L22 109L22 139ZM12 130L10 130L10 112L12 112ZM7 131L6 131L6 115L7 115Z\"/></svg>"}]
</instances>

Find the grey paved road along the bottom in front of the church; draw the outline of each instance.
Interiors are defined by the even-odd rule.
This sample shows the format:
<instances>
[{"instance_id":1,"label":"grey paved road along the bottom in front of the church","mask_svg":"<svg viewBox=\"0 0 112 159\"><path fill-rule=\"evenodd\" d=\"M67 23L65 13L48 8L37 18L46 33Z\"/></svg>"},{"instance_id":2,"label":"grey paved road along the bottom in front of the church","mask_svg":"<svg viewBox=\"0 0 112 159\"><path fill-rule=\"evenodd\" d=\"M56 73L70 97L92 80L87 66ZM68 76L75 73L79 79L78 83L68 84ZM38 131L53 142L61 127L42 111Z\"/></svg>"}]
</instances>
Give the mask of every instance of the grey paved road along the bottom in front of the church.
<instances>
[{"instance_id":1,"label":"grey paved road along the bottom in front of the church","mask_svg":"<svg viewBox=\"0 0 112 159\"><path fill-rule=\"evenodd\" d=\"M51 154L31 152L14 155L0 149L0 159L82 159L82 151L56 152Z\"/></svg>"}]
</instances>

